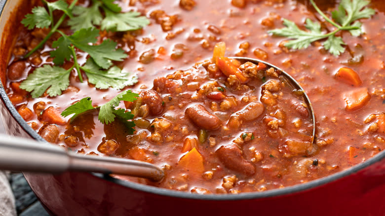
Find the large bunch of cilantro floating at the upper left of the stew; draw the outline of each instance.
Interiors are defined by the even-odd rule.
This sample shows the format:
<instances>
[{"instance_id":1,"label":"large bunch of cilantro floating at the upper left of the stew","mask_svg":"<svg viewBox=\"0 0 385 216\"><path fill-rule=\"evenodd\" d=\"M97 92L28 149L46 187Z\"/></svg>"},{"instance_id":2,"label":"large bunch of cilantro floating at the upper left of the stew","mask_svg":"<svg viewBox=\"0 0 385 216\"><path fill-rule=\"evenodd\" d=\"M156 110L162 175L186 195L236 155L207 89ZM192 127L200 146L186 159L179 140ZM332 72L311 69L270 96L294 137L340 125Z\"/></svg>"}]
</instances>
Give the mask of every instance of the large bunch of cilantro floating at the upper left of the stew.
<instances>
[{"instance_id":1,"label":"large bunch of cilantro floating at the upper left of the stew","mask_svg":"<svg viewBox=\"0 0 385 216\"><path fill-rule=\"evenodd\" d=\"M77 0L70 5L64 0L43 1L46 7L34 7L32 14L27 14L22 24L29 30L50 28L50 31L25 58L41 48L54 33L59 33L61 37L52 43L54 50L50 52L55 65L45 65L36 69L21 83L20 88L31 92L34 98L40 97L44 92L51 97L60 95L69 86L69 75L74 69L80 82L83 81L81 74L83 71L88 82L94 84L96 88L121 89L137 82L136 76L130 76L129 73L113 66L112 61L123 61L127 57L122 49L116 49L116 42L106 39L96 44L99 36L97 28L112 32L132 31L148 25L150 22L146 17L132 11L121 13L120 6L114 3L114 0L92 0L90 7L75 6ZM54 10L64 12L56 23L53 18ZM104 16L100 10L104 11ZM67 17L70 18L68 24L75 31L71 36L59 30ZM88 54L89 58L85 64L79 64L76 49ZM71 59L74 65L69 70L59 67Z\"/></svg>"}]
</instances>

